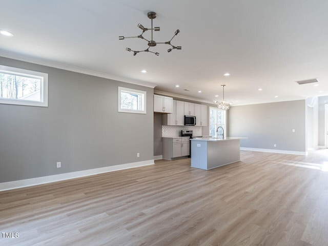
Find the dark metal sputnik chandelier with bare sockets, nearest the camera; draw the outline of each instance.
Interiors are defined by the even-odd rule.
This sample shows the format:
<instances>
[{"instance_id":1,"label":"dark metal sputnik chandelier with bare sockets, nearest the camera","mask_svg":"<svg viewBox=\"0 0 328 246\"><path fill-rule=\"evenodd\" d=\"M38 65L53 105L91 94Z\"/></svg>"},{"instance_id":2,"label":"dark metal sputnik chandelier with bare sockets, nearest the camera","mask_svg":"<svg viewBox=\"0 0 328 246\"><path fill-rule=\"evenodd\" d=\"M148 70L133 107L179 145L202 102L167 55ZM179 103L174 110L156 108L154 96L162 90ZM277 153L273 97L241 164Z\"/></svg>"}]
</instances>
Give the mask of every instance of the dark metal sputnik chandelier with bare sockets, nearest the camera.
<instances>
[{"instance_id":1,"label":"dark metal sputnik chandelier with bare sockets, nearest the camera","mask_svg":"<svg viewBox=\"0 0 328 246\"><path fill-rule=\"evenodd\" d=\"M152 28L146 28L144 26L142 26L140 23L138 24L138 28L140 28L142 30L142 33L139 35L139 36L134 36L134 37L125 37L125 36L119 36L118 39L120 40L123 40L125 38L135 38L135 37L138 37L138 38L141 38L141 39L145 39L147 42L148 42L148 48L146 50L140 50L140 51L137 51L137 50L132 50L130 48L126 48L127 51L132 51L133 52L133 55L136 55L137 53L139 52L150 52L150 53L153 53L155 55L159 55L158 52L153 52L153 51L150 51L149 48L150 47L154 47L156 46L157 44L166 44L166 45L171 45L172 48L168 49L168 52L171 52L172 50L174 49L177 49L177 50L181 50L181 46L174 46L171 44L171 41L172 39L179 34L180 30L176 30L173 37L170 39L170 41L168 42L155 42L155 40L153 40L153 31L159 31L159 27L154 27L153 28L153 19L156 18L156 13L155 12L148 12L148 18L151 19L152 21ZM152 40L147 40L144 36L142 36L146 31L148 30L151 30L152 32Z\"/></svg>"}]
</instances>

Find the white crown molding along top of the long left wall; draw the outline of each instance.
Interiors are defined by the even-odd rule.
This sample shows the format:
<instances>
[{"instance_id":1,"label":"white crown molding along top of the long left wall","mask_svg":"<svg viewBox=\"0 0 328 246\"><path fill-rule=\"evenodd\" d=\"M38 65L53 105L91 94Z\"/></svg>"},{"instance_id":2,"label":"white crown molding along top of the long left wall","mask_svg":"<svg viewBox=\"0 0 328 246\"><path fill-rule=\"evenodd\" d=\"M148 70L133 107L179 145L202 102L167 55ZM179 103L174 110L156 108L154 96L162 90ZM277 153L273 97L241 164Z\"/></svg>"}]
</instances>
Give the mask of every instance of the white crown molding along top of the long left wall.
<instances>
[{"instance_id":1,"label":"white crown molding along top of the long left wall","mask_svg":"<svg viewBox=\"0 0 328 246\"><path fill-rule=\"evenodd\" d=\"M113 79L113 80L129 83L129 84L134 84L134 85L138 85L138 86L145 86L145 87L150 87L150 88L155 88L157 86L155 84L137 80L137 79L124 78L124 77L119 77L119 76L112 75L112 74L101 73L101 72L92 71L92 70L74 67L74 66L69 66L69 65L65 65L65 64L59 64L59 63L55 63L54 61L40 59L37 57L23 56L21 54L19 54L19 55L8 54L3 51L0 51L0 56L10 58L10 59L16 59L16 60L20 60L20 61L26 61L27 63L34 63L37 65L63 69L63 70L71 71L71 72L82 73L82 74L92 75L92 76L101 77L101 78Z\"/></svg>"}]
</instances>

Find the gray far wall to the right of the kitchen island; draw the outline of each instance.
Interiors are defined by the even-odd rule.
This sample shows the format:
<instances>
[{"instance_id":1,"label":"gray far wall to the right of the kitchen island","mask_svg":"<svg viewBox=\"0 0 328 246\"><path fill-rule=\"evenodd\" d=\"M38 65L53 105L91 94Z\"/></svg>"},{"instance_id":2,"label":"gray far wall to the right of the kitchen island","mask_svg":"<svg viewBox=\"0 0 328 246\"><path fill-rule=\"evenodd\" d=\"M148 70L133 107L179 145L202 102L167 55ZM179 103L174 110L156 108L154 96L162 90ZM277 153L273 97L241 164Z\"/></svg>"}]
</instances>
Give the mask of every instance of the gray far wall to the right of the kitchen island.
<instances>
[{"instance_id":1,"label":"gray far wall to the right of the kitchen island","mask_svg":"<svg viewBox=\"0 0 328 246\"><path fill-rule=\"evenodd\" d=\"M233 106L228 136L248 137L240 141L245 148L305 152L305 107L305 100Z\"/></svg>"}]
</instances>

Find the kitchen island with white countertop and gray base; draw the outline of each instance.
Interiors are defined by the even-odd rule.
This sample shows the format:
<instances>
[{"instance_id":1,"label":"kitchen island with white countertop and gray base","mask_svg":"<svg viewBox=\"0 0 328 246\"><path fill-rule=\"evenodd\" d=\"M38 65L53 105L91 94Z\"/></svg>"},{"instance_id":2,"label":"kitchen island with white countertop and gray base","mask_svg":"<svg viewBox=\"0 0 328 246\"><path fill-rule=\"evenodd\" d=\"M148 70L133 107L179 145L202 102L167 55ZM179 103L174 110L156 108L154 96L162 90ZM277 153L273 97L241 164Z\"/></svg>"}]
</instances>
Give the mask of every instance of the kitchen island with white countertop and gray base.
<instances>
[{"instance_id":1,"label":"kitchen island with white countertop and gray base","mask_svg":"<svg viewBox=\"0 0 328 246\"><path fill-rule=\"evenodd\" d=\"M209 170L240 160L240 139L199 137L191 139L191 167Z\"/></svg>"}]
</instances>

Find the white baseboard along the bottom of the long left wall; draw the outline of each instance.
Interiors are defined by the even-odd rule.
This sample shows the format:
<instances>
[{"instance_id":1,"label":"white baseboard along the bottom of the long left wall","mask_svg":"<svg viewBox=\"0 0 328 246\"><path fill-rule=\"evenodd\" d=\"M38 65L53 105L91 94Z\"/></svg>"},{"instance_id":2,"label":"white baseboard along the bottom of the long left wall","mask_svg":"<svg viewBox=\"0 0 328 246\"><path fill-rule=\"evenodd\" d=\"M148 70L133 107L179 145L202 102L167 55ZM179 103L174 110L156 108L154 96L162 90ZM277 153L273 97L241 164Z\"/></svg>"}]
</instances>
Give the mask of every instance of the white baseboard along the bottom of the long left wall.
<instances>
[{"instance_id":1,"label":"white baseboard along the bottom of the long left wall","mask_svg":"<svg viewBox=\"0 0 328 246\"><path fill-rule=\"evenodd\" d=\"M36 186L36 185L41 185L43 183L50 183L60 180L79 178L79 177L90 176L99 173L113 172L122 169L137 168L137 167L148 166L153 164L154 164L154 160L145 160L145 161L138 161L138 162L121 164L121 165L109 166L104 168L95 168L95 169L89 169L89 170L83 170L83 171L77 171L71 173L62 173L62 174L56 174L51 176L45 176L45 177L4 182L4 183L0 183L0 191L12 190L12 189L28 187L28 186Z\"/></svg>"}]
</instances>

